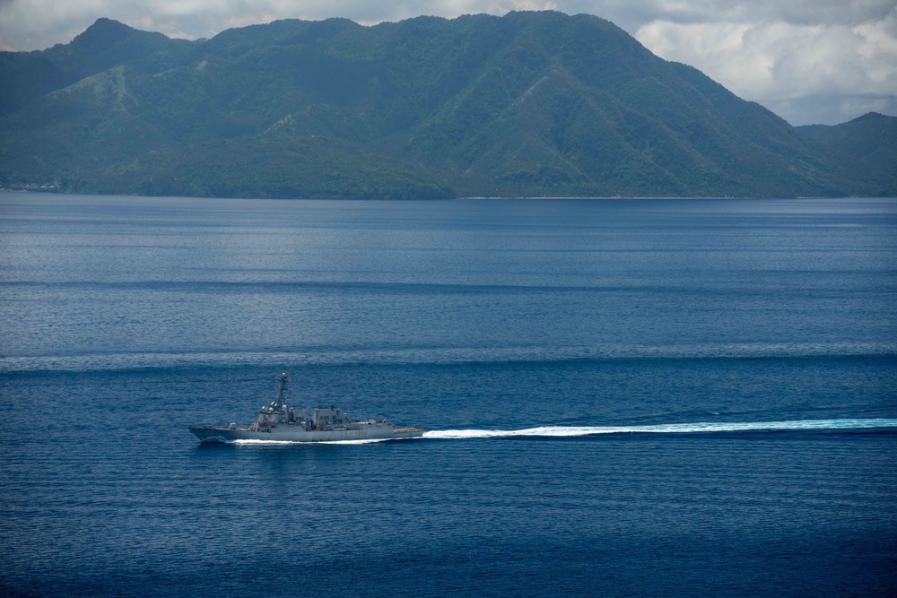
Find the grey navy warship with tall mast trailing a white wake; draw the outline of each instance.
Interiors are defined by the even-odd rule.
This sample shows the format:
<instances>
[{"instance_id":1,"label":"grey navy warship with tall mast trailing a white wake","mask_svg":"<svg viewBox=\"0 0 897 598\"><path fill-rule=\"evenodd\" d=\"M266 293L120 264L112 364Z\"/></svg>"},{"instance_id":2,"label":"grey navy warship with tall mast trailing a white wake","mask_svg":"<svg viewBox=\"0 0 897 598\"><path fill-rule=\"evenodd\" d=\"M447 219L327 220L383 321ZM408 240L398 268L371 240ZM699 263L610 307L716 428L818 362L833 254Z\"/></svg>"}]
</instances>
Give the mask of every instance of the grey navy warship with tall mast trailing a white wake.
<instances>
[{"instance_id":1,"label":"grey navy warship with tall mast trailing a white wake","mask_svg":"<svg viewBox=\"0 0 897 598\"><path fill-rule=\"evenodd\" d=\"M396 428L388 420L353 420L334 407L318 408L311 418L307 413L286 406L286 385L290 377L281 374L280 386L270 405L262 407L258 419L248 428L190 426L202 442L232 442L234 440L285 440L289 442L333 442L335 440L384 440L389 438L417 438L422 428Z\"/></svg>"}]
</instances>

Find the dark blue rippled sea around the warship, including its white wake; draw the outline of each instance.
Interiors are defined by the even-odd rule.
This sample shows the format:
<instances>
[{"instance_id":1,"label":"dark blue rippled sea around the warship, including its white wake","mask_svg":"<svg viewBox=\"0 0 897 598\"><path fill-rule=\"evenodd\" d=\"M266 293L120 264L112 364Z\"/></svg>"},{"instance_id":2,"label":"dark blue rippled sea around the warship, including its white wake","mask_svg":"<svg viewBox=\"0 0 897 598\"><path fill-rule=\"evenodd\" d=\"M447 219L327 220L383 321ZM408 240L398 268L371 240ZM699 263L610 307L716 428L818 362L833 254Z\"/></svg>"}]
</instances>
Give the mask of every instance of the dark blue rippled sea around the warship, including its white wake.
<instances>
[{"instance_id":1,"label":"dark blue rippled sea around the warship, including its white wake","mask_svg":"<svg viewBox=\"0 0 897 598\"><path fill-rule=\"evenodd\" d=\"M893 596L897 200L4 193L0 422L4 596Z\"/></svg>"}]
</instances>

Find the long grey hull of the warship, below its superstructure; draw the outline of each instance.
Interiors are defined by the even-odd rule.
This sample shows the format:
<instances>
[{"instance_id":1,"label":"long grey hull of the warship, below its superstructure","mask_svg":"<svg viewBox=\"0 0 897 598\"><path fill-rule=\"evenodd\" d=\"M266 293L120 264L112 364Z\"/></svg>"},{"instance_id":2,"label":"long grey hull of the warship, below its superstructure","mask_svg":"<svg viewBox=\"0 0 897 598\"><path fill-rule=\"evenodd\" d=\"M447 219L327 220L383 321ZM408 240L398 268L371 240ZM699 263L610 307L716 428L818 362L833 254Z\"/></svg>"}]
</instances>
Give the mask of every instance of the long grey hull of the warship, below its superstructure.
<instances>
[{"instance_id":1,"label":"long grey hull of the warship, below its superstructure","mask_svg":"<svg viewBox=\"0 0 897 598\"><path fill-rule=\"evenodd\" d=\"M338 442L345 440L389 440L394 438L420 438L423 429L371 426L361 429L310 430L286 427L271 431L252 429L214 428L190 426L190 431L204 443L233 442L235 440L278 440L281 442Z\"/></svg>"}]
</instances>

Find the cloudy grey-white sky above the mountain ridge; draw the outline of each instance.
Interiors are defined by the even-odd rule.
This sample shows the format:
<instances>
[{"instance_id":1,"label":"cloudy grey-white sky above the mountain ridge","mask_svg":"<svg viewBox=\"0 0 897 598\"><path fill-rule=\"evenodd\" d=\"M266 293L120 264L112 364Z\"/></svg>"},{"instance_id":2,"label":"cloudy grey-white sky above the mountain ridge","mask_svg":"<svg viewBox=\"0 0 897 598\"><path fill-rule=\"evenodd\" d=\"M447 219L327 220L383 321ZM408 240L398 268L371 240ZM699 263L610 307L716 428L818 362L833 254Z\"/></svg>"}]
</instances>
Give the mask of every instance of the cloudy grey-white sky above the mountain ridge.
<instances>
[{"instance_id":1,"label":"cloudy grey-white sky above the mountain ridge","mask_svg":"<svg viewBox=\"0 0 897 598\"><path fill-rule=\"evenodd\" d=\"M66 43L99 17L196 39L285 18L542 9L604 17L793 125L897 116L897 0L0 0L0 49Z\"/></svg>"}]
</instances>

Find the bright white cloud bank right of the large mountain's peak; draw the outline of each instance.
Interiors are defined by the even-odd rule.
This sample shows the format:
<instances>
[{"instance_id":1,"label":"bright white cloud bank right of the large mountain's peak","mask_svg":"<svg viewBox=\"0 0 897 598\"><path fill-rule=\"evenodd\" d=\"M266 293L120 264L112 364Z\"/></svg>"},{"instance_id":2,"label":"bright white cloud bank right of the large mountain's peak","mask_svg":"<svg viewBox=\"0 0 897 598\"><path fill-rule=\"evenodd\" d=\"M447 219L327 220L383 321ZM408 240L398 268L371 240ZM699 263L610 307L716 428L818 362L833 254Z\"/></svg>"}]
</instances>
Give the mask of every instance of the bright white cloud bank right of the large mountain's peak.
<instances>
[{"instance_id":1,"label":"bright white cloud bank right of the large mountain's peak","mask_svg":"<svg viewBox=\"0 0 897 598\"><path fill-rule=\"evenodd\" d=\"M736 95L779 113L799 98L842 96L844 119L858 116L861 106L885 109L897 96L895 13L854 26L658 20L635 37L658 56L697 65ZM797 112L788 117L805 120Z\"/></svg>"}]
</instances>

